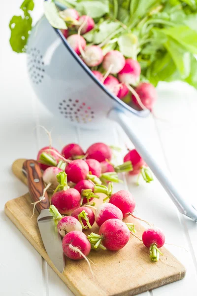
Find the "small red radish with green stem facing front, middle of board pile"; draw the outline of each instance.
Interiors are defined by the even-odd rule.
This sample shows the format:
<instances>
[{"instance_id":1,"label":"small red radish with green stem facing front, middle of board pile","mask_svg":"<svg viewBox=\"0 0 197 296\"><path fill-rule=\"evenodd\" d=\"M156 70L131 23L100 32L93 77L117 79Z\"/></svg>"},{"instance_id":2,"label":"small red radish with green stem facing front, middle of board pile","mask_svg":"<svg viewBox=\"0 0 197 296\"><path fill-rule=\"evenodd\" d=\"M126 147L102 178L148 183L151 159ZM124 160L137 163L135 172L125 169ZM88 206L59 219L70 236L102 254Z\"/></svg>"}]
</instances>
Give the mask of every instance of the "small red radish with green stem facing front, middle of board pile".
<instances>
[{"instance_id":1,"label":"small red radish with green stem facing front, middle of board pile","mask_svg":"<svg viewBox=\"0 0 197 296\"><path fill-rule=\"evenodd\" d=\"M90 180L81 180L74 186L83 198L82 203L89 203L95 197L99 198L98 195L94 194L94 186L95 184Z\"/></svg>"}]
</instances>

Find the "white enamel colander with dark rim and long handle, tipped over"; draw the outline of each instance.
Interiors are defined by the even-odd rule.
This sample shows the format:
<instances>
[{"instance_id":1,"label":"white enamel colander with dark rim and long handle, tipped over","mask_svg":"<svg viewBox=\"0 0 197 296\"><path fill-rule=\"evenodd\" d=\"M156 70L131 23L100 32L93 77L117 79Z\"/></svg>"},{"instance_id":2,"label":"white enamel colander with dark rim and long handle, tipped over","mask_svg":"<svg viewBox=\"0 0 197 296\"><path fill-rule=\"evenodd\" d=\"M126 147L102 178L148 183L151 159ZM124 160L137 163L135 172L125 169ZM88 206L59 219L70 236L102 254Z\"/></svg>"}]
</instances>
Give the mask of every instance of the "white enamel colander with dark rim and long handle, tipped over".
<instances>
[{"instance_id":1,"label":"white enamel colander with dark rim and long handle, tipped over","mask_svg":"<svg viewBox=\"0 0 197 296\"><path fill-rule=\"evenodd\" d=\"M55 116L62 118L65 125L87 128L106 127L111 119L117 121L178 210L197 221L197 210L178 192L132 125L133 116L145 117L149 111L137 111L108 91L70 48L61 30L52 28L44 16L33 28L27 53L33 89Z\"/></svg>"}]
</instances>

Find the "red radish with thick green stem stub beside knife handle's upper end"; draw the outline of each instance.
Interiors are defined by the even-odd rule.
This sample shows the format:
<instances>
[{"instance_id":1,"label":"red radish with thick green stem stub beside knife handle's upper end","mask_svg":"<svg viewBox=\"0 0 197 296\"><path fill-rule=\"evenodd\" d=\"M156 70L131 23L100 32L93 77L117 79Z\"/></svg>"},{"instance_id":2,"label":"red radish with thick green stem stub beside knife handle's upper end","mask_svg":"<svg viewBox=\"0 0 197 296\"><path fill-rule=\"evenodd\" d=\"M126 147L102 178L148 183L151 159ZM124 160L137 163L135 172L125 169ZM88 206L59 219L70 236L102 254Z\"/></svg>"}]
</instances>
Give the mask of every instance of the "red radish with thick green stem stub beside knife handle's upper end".
<instances>
[{"instance_id":1,"label":"red radish with thick green stem stub beside knife handle's upper end","mask_svg":"<svg viewBox=\"0 0 197 296\"><path fill-rule=\"evenodd\" d=\"M47 151L45 153L45 150L48 150L48 149L50 149L50 151ZM57 155L57 153L53 152L53 150L55 152L59 153L59 151L57 149L50 147L50 146L43 147L38 151L37 161L39 162L39 166L40 166L41 170L44 171L49 166L56 166L58 164L59 156ZM41 158L40 158L40 156L41 156Z\"/></svg>"}]
</instances>

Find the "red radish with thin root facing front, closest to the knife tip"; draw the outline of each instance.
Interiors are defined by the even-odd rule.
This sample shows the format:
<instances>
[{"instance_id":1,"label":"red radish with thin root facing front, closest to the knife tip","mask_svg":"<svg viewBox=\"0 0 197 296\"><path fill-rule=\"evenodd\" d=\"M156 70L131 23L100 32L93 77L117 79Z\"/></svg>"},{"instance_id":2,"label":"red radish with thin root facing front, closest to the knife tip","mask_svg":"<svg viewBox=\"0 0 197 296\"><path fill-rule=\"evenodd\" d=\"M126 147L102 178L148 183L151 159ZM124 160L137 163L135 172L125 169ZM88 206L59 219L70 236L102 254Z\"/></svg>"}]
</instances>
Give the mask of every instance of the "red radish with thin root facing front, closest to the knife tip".
<instances>
[{"instance_id":1,"label":"red radish with thin root facing front, closest to the knife tip","mask_svg":"<svg viewBox=\"0 0 197 296\"><path fill-rule=\"evenodd\" d=\"M91 244L87 236L77 230L68 232L64 236L62 247L65 255L73 260L83 259L89 255L91 250Z\"/></svg>"}]
</instances>

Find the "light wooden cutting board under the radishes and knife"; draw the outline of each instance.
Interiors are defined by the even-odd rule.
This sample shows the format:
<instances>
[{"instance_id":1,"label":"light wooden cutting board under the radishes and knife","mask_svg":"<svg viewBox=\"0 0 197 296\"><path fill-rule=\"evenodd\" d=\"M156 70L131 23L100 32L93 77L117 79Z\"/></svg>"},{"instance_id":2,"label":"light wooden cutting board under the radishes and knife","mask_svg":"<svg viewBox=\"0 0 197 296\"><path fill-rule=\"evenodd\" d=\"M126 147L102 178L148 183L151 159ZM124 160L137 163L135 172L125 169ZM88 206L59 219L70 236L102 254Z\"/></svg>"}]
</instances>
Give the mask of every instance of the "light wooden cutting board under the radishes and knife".
<instances>
[{"instance_id":1,"label":"light wooden cutting board under the radishes and knife","mask_svg":"<svg viewBox=\"0 0 197 296\"><path fill-rule=\"evenodd\" d=\"M24 160L16 160L12 171L27 184L22 173ZM31 202L29 193L10 200L5 204L5 213L77 296L137 295L181 280L185 276L185 267L169 251L162 248L164 256L161 256L158 262L151 262L149 250L132 235L129 243L117 252L91 251L88 258L94 262L91 265L95 278L92 277L85 260L73 261L66 258L65 270L61 274L44 249L37 226L38 213L35 212L30 219L33 213ZM127 218L127 221L135 223L137 235L141 236L144 227L131 217ZM98 226L93 225L91 231L98 233L98 230ZM85 233L89 234L91 231Z\"/></svg>"}]
</instances>

